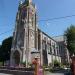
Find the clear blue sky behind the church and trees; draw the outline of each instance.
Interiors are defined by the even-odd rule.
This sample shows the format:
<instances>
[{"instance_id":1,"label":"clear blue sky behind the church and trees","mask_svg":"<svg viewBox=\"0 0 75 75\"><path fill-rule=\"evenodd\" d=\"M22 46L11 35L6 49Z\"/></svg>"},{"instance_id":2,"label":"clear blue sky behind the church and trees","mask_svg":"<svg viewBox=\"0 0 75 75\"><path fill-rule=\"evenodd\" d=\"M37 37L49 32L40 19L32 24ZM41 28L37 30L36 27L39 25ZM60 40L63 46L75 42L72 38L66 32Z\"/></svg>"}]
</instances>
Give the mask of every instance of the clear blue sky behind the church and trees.
<instances>
[{"instance_id":1,"label":"clear blue sky behind the church and trees","mask_svg":"<svg viewBox=\"0 0 75 75\"><path fill-rule=\"evenodd\" d=\"M75 15L75 0L32 1L37 7L38 27L49 36L63 35L67 27L75 25L75 16L41 21ZM0 0L0 44L5 38L13 35L18 4L19 0Z\"/></svg>"}]
</instances>

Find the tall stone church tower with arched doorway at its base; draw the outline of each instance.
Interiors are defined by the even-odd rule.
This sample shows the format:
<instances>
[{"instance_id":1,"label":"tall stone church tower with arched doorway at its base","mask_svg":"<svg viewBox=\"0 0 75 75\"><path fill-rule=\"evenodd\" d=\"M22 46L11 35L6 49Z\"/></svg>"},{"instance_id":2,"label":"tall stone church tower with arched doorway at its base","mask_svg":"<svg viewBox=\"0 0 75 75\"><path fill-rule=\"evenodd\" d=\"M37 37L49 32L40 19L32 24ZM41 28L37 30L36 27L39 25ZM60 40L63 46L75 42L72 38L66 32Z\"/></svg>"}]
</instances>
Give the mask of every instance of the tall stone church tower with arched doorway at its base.
<instances>
[{"instance_id":1,"label":"tall stone church tower with arched doorway at its base","mask_svg":"<svg viewBox=\"0 0 75 75\"><path fill-rule=\"evenodd\" d=\"M16 25L13 33L10 64L31 62L32 49L37 50L36 8L32 0L19 3ZM37 42L37 43L36 43Z\"/></svg>"}]
</instances>

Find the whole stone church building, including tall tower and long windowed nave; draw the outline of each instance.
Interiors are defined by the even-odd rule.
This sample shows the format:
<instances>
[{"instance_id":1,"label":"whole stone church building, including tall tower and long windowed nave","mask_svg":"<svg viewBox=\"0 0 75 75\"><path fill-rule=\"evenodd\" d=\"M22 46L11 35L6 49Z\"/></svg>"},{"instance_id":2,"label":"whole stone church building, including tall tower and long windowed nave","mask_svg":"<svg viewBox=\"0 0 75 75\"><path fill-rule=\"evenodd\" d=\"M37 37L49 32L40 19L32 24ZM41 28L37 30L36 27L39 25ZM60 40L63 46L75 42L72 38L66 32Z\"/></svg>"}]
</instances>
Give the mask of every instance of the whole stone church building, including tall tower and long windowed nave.
<instances>
[{"instance_id":1,"label":"whole stone church building, including tall tower and long windowed nave","mask_svg":"<svg viewBox=\"0 0 75 75\"><path fill-rule=\"evenodd\" d=\"M41 66L49 65L54 60L61 63L62 58L65 57L62 56L62 51L66 47L61 44L38 28L36 6L32 0L20 2L13 32L10 65L19 65L22 62L28 65L36 57ZM65 59L66 62L69 61L67 57Z\"/></svg>"}]
</instances>

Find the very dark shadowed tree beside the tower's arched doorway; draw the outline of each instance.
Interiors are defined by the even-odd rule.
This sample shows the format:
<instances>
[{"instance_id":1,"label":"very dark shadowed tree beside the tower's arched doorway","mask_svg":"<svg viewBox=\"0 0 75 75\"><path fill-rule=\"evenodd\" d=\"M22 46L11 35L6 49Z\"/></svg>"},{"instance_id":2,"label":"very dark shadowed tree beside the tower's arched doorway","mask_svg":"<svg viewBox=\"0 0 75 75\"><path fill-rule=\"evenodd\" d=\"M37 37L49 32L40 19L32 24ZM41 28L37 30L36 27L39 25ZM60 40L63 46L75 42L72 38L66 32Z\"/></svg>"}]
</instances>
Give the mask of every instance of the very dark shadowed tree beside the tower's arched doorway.
<instances>
[{"instance_id":1,"label":"very dark shadowed tree beside the tower's arched doorway","mask_svg":"<svg viewBox=\"0 0 75 75\"><path fill-rule=\"evenodd\" d=\"M12 37L3 40L2 45L0 47L0 61L4 62L10 59L11 44Z\"/></svg>"}]
</instances>

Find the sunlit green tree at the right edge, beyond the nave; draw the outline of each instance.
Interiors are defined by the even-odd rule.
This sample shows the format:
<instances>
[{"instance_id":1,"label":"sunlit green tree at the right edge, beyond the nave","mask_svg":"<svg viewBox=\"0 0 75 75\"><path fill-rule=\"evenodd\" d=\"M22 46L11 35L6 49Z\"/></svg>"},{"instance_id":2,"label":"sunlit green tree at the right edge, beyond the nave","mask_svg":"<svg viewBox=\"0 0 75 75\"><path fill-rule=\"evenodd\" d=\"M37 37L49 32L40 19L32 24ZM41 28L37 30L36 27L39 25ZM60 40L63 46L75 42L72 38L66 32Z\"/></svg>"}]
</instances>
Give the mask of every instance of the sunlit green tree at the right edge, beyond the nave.
<instances>
[{"instance_id":1,"label":"sunlit green tree at the right edge, beyond the nave","mask_svg":"<svg viewBox=\"0 0 75 75\"><path fill-rule=\"evenodd\" d=\"M71 25L65 31L65 36L67 38L67 48L69 50L70 56L75 54L75 26Z\"/></svg>"}]
</instances>

